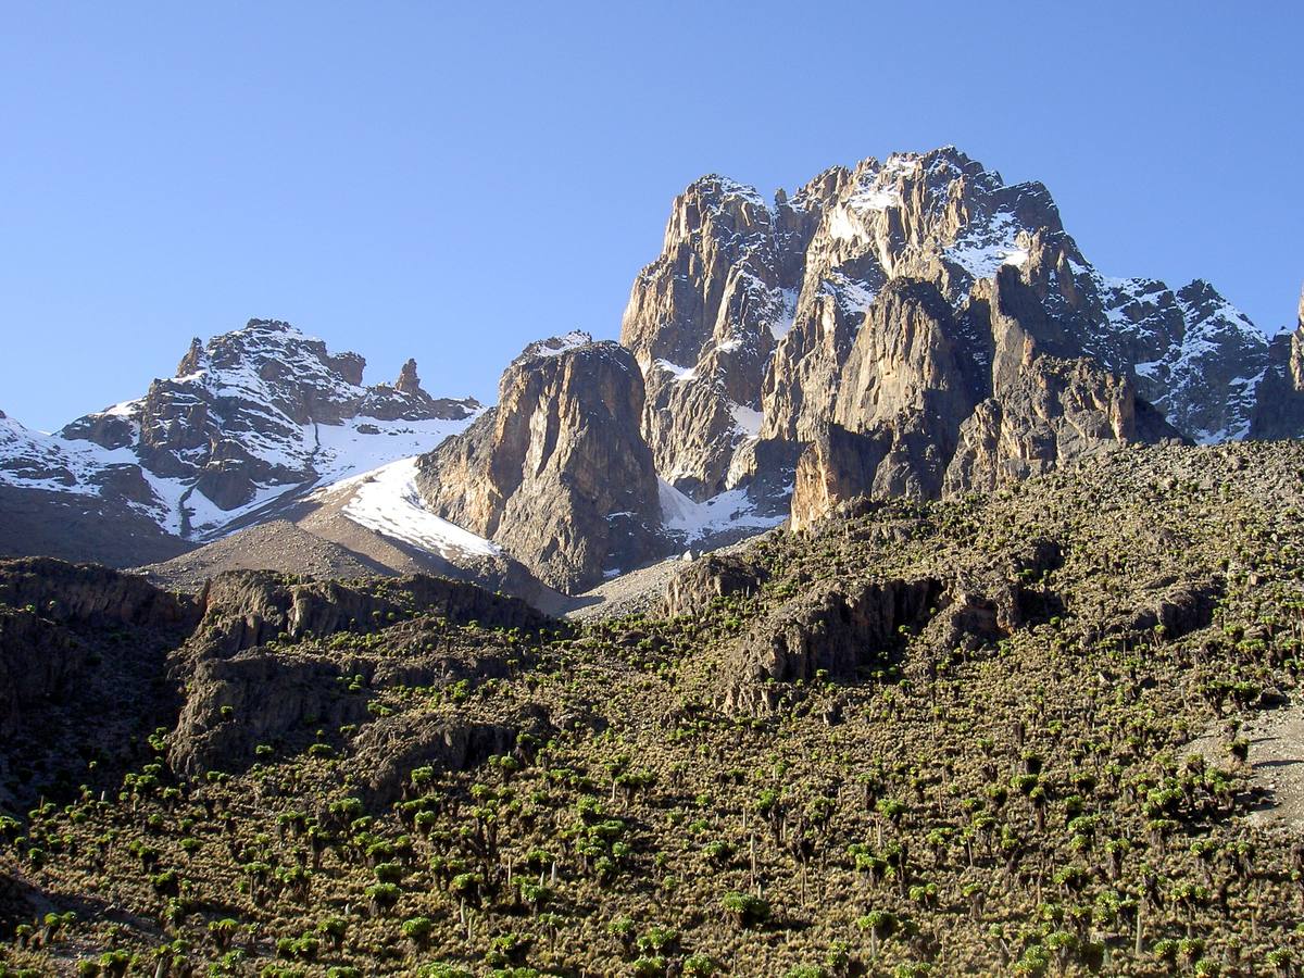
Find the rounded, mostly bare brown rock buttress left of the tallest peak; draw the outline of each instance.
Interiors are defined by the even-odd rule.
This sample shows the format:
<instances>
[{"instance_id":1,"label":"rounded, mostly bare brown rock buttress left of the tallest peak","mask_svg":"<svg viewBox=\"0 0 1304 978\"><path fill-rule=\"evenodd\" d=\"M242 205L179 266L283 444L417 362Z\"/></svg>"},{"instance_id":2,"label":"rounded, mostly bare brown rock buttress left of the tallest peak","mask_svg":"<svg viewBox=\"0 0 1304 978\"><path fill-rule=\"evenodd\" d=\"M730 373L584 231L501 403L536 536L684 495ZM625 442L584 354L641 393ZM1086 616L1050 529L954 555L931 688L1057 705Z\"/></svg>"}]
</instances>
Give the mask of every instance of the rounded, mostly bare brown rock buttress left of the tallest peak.
<instances>
[{"instance_id":1,"label":"rounded, mostly bare brown rock buttress left of the tallest peak","mask_svg":"<svg viewBox=\"0 0 1304 978\"><path fill-rule=\"evenodd\" d=\"M419 462L426 507L562 591L652 556L660 503L639 425L631 353L588 334L535 343L502 376L498 406Z\"/></svg>"}]
</instances>

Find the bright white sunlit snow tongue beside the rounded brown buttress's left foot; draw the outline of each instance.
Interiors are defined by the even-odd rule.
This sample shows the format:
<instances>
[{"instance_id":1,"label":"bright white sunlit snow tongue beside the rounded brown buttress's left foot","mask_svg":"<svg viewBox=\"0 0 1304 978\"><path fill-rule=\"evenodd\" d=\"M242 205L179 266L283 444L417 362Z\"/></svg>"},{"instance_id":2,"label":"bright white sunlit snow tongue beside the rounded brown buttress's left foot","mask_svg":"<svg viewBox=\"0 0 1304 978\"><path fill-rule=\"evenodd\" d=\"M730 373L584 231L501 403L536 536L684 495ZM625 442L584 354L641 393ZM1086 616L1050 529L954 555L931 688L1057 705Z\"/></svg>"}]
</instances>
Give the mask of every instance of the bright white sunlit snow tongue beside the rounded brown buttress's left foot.
<instances>
[{"instance_id":1,"label":"bright white sunlit snow tongue beside the rounded brown buttress's left foot","mask_svg":"<svg viewBox=\"0 0 1304 978\"><path fill-rule=\"evenodd\" d=\"M416 458L399 459L353 480L344 516L382 536L445 559L458 556L499 557L502 548L425 507L416 488Z\"/></svg>"}]
</instances>

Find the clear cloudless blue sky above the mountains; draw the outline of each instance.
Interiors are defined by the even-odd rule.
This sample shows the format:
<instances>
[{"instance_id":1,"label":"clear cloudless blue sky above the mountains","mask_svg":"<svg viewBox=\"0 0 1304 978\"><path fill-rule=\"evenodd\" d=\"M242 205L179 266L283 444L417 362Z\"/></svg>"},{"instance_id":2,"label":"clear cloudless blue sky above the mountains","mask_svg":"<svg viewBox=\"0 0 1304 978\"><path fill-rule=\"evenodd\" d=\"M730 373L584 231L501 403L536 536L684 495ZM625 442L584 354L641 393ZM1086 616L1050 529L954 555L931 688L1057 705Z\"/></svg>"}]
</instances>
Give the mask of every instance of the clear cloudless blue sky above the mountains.
<instances>
[{"instance_id":1,"label":"clear cloudless blue sky above the mountains","mask_svg":"<svg viewBox=\"0 0 1304 978\"><path fill-rule=\"evenodd\" d=\"M0 409L56 428L289 319L492 400L615 338L672 198L955 143L1106 274L1304 280L1304 5L27 3L0 29Z\"/></svg>"}]
</instances>

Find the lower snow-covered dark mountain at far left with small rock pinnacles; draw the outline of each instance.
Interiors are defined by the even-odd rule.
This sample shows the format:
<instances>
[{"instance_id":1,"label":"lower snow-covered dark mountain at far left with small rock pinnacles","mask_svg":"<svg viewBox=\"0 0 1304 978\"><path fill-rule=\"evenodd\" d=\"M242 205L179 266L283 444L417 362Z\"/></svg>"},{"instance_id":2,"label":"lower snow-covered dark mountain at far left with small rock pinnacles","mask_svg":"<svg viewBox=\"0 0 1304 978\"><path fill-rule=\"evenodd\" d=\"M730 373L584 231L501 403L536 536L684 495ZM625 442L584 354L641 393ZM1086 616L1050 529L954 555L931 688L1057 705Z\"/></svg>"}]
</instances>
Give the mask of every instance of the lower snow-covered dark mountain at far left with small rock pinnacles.
<instances>
[{"instance_id":1,"label":"lower snow-covered dark mountain at far left with small rock pinnacles","mask_svg":"<svg viewBox=\"0 0 1304 978\"><path fill-rule=\"evenodd\" d=\"M261 522L314 486L416 455L480 411L471 399L430 396L415 361L393 385L363 386L364 368L357 353L331 353L286 322L250 319L206 346L193 340L176 376L143 396L57 434L0 416L0 490L43 501L29 506L42 529L86 507L126 520L141 544L91 541L77 556L145 563ZM9 514L0 529L10 550L31 532L9 526Z\"/></svg>"}]
</instances>

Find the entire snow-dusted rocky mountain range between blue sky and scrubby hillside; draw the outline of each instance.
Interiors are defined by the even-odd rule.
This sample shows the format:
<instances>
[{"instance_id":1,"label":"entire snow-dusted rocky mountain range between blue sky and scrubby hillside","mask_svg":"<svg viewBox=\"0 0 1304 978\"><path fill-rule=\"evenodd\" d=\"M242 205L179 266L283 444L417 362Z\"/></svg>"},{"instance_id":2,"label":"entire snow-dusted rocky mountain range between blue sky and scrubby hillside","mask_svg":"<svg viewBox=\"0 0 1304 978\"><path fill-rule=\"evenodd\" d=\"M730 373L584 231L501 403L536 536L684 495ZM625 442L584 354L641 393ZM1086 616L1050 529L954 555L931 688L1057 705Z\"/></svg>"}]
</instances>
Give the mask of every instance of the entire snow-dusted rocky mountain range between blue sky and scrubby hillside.
<instances>
[{"instance_id":1,"label":"entire snow-dusted rocky mountain range between blue sky and scrubby hillside","mask_svg":"<svg viewBox=\"0 0 1304 978\"><path fill-rule=\"evenodd\" d=\"M447 572L554 606L859 496L1301 434L1301 344L1208 282L1103 275L1042 184L955 147L773 201L711 175L674 200L619 344L529 344L496 407L430 396L413 361L364 386L356 353L252 319L56 436L0 417L0 548L188 587L250 554Z\"/></svg>"}]
</instances>

